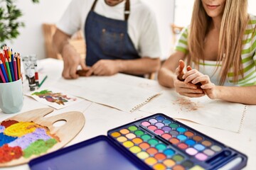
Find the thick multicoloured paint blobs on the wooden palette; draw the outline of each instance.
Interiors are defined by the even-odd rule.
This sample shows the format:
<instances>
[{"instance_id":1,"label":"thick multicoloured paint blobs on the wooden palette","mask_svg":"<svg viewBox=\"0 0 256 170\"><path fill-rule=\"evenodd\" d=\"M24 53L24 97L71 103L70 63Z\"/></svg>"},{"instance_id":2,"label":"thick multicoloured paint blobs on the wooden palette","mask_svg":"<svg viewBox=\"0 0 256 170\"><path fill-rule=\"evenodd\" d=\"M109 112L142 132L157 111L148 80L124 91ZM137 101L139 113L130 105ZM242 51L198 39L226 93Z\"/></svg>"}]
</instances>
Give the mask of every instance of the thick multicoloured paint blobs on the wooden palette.
<instances>
[{"instance_id":1,"label":"thick multicoloured paint blobs on the wooden palette","mask_svg":"<svg viewBox=\"0 0 256 170\"><path fill-rule=\"evenodd\" d=\"M0 125L0 164L46 153L59 138L33 122L6 120Z\"/></svg>"}]
</instances>

